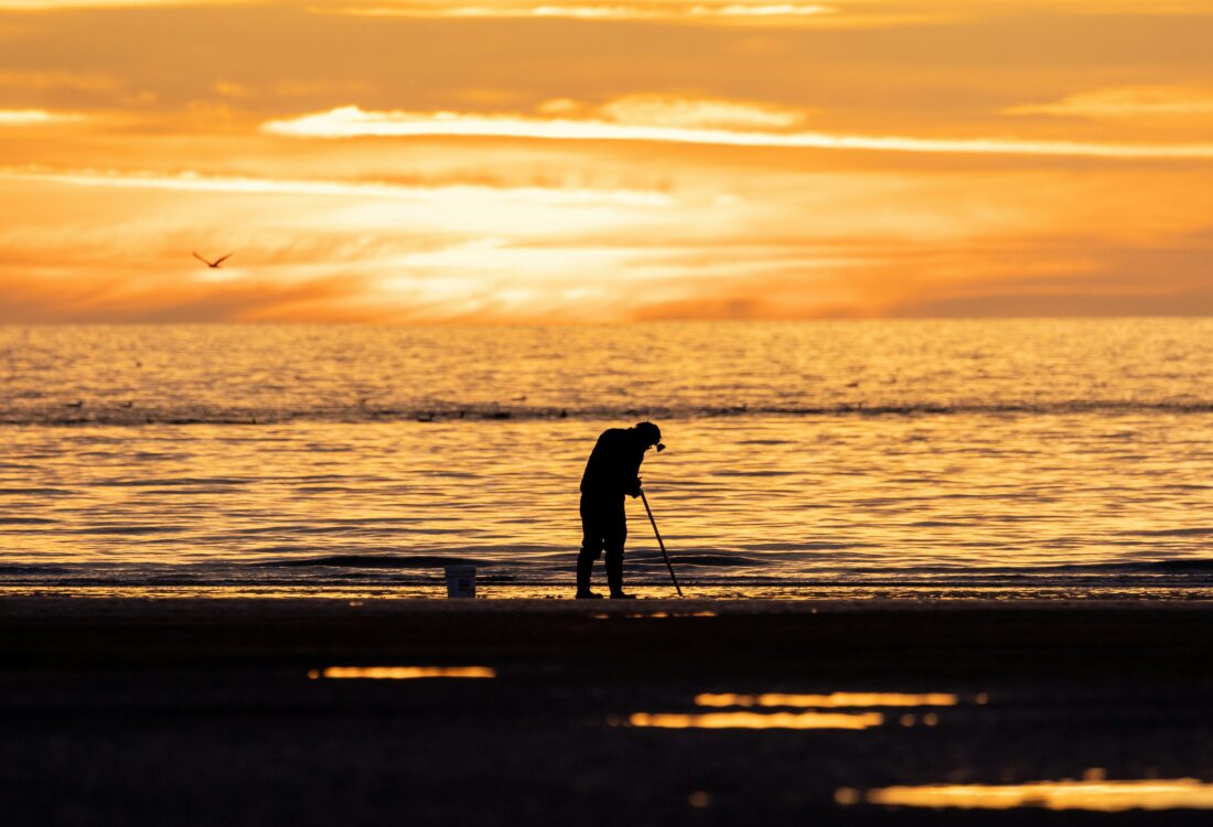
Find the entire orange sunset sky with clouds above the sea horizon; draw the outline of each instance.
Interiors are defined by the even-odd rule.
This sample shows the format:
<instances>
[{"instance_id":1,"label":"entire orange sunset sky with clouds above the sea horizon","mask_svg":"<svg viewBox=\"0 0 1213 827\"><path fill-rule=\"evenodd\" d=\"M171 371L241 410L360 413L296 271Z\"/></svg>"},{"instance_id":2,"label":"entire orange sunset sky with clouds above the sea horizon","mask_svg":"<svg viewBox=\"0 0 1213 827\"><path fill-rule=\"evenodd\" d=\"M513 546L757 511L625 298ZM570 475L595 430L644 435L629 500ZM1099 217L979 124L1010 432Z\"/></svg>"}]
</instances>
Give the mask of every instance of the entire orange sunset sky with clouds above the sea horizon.
<instances>
[{"instance_id":1,"label":"entire orange sunset sky with clouds above the sea horizon","mask_svg":"<svg viewBox=\"0 0 1213 827\"><path fill-rule=\"evenodd\" d=\"M0 0L0 321L1209 314L1211 44L1213 0Z\"/></svg>"}]
</instances>

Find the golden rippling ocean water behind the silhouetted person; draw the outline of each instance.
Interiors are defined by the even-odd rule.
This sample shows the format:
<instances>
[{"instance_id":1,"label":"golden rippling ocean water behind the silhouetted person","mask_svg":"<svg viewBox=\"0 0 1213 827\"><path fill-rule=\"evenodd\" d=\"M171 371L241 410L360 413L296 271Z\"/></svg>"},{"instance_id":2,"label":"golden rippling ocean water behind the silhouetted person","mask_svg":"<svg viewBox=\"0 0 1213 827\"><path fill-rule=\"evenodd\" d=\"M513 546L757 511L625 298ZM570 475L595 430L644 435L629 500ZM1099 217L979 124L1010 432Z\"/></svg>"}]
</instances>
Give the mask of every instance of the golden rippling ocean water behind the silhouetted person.
<instances>
[{"instance_id":1,"label":"golden rippling ocean water behind the silhouetted person","mask_svg":"<svg viewBox=\"0 0 1213 827\"><path fill-rule=\"evenodd\" d=\"M1213 597L1213 320L0 327L0 589L566 594L606 427L689 593ZM639 501L627 576L670 592ZM600 572L598 572L600 577Z\"/></svg>"}]
</instances>

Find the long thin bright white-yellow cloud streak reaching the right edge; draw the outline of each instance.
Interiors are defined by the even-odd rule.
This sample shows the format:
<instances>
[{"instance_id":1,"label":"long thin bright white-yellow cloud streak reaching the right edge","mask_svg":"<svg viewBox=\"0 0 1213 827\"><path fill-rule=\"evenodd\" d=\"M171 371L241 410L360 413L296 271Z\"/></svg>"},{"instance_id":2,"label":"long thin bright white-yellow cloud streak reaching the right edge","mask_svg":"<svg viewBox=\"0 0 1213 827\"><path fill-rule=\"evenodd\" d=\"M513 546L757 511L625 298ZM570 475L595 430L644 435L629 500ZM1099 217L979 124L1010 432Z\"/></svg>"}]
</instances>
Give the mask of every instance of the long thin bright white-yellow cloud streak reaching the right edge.
<instances>
[{"instance_id":1,"label":"long thin bright white-yellow cloud streak reaching the right edge","mask_svg":"<svg viewBox=\"0 0 1213 827\"><path fill-rule=\"evenodd\" d=\"M482 115L459 112L368 112L338 107L298 118L270 120L264 132L296 138L497 137L543 141L648 141L719 147L841 149L894 153L1047 155L1107 159L1206 159L1213 144L1129 144L1014 138L922 138L911 136L773 132L694 129L605 119Z\"/></svg>"}]
</instances>

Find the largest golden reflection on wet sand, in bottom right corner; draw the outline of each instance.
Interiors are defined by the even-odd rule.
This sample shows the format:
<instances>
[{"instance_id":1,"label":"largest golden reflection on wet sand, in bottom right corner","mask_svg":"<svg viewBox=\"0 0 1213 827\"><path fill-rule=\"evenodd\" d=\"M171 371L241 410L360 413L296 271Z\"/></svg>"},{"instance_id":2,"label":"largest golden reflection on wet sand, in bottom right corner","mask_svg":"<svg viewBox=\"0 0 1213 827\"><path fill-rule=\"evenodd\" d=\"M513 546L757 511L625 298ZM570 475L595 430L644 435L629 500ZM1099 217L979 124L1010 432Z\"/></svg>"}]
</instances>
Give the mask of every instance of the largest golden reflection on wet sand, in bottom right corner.
<instances>
[{"instance_id":1,"label":"largest golden reflection on wet sand, in bottom right corner","mask_svg":"<svg viewBox=\"0 0 1213 827\"><path fill-rule=\"evenodd\" d=\"M859 792L844 787L838 804L858 804ZM1213 809L1213 785L1196 778L1169 781L1041 781L1024 785L938 785L884 787L862 797L869 804L1009 810L1020 806L1046 810L1178 810Z\"/></svg>"}]
</instances>

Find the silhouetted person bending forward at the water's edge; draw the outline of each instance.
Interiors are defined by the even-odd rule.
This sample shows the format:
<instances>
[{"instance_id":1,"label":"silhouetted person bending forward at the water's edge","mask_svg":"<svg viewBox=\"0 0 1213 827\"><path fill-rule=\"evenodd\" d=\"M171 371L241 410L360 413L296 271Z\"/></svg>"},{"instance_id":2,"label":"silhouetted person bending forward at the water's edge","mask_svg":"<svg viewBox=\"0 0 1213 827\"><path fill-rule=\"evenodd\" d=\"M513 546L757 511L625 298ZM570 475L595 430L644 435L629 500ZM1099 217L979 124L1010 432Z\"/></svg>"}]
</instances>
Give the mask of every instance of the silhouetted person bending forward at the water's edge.
<instances>
[{"instance_id":1,"label":"silhouetted person bending forward at the water's edge","mask_svg":"<svg viewBox=\"0 0 1213 827\"><path fill-rule=\"evenodd\" d=\"M577 555L577 597L599 598L590 591L594 560L606 549L606 584L613 598L631 598L623 593L623 541L627 517L623 496L640 496L640 463L644 452L661 445L661 429L651 422L631 428L610 428L586 462L581 478L581 554Z\"/></svg>"}]
</instances>

